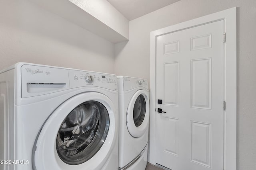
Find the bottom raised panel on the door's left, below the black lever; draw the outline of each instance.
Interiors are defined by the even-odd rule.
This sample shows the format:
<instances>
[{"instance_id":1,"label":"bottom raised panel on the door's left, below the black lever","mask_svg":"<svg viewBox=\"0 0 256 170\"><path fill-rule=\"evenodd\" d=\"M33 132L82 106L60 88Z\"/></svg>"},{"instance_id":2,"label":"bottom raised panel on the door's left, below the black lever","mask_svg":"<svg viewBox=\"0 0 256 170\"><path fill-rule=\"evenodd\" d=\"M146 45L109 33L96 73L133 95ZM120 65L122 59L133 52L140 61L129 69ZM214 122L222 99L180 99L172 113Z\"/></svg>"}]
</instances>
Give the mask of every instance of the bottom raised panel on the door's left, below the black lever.
<instances>
[{"instance_id":1,"label":"bottom raised panel on the door's left, below the black lever","mask_svg":"<svg viewBox=\"0 0 256 170\"><path fill-rule=\"evenodd\" d=\"M179 119L164 117L164 152L179 156Z\"/></svg>"}]
</instances>

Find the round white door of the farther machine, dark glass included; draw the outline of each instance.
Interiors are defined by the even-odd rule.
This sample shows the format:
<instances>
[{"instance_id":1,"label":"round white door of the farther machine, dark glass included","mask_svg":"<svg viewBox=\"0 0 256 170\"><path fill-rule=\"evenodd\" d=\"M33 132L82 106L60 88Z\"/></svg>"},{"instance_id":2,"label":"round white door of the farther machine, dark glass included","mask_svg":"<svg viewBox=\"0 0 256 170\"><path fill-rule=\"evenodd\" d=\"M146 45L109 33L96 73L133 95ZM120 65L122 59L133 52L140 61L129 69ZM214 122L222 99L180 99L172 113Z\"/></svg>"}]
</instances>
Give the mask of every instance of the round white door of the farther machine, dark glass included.
<instances>
[{"instance_id":1,"label":"round white door of the farther machine, dark glass included","mask_svg":"<svg viewBox=\"0 0 256 170\"><path fill-rule=\"evenodd\" d=\"M148 130L149 101L148 93L138 90L132 96L127 109L127 128L133 137L141 137Z\"/></svg>"}]
</instances>

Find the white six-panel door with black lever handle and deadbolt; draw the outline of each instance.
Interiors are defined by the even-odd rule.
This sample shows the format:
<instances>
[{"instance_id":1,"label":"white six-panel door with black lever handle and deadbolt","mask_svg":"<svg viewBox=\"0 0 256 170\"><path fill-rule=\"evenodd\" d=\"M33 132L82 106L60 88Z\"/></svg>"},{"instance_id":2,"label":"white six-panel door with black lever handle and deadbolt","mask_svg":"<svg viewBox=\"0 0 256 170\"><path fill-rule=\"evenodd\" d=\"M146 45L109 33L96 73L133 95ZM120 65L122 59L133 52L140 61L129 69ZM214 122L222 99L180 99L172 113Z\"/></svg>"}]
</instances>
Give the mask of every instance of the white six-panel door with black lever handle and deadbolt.
<instances>
[{"instance_id":1,"label":"white six-panel door with black lever handle and deadbolt","mask_svg":"<svg viewBox=\"0 0 256 170\"><path fill-rule=\"evenodd\" d=\"M157 37L156 99L156 163L223 170L224 20Z\"/></svg>"}]
</instances>

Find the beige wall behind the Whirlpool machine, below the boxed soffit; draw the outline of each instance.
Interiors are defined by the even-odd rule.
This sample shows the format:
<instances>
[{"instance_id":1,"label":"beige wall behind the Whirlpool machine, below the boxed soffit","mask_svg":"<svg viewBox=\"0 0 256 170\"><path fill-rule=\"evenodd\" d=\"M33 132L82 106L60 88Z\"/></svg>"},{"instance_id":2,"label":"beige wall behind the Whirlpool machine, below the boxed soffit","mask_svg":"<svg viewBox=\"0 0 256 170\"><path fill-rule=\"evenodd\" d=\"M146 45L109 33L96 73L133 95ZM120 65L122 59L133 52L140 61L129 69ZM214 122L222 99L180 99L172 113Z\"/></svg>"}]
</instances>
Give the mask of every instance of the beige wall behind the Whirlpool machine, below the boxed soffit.
<instances>
[{"instance_id":1,"label":"beige wall behind the Whirlpool machine, below the boxed soffit","mask_svg":"<svg viewBox=\"0 0 256 170\"><path fill-rule=\"evenodd\" d=\"M114 45L32 1L1 0L0 70L17 62L114 73Z\"/></svg>"}]
</instances>

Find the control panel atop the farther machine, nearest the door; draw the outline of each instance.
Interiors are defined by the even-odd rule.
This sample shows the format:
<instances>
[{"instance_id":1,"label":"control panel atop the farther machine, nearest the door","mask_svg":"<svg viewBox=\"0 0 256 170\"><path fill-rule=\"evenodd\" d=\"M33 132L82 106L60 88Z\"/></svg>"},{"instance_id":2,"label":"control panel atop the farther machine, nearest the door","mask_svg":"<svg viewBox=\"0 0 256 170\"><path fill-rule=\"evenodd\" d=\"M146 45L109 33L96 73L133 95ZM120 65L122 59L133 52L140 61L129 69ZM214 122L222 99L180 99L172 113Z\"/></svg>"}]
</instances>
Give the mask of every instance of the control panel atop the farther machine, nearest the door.
<instances>
[{"instance_id":1,"label":"control panel atop the farther machine, nearest the door","mask_svg":"<svg viewBox=\"0 0 256 170\"><path fill-rule=\"evenodd\" d=\"M131 90L137 87L144 87L148 89L148 80L145 80L145 79L123 77L123 82L124 82L124 91Z\"/></svg>"}]
</instances>

